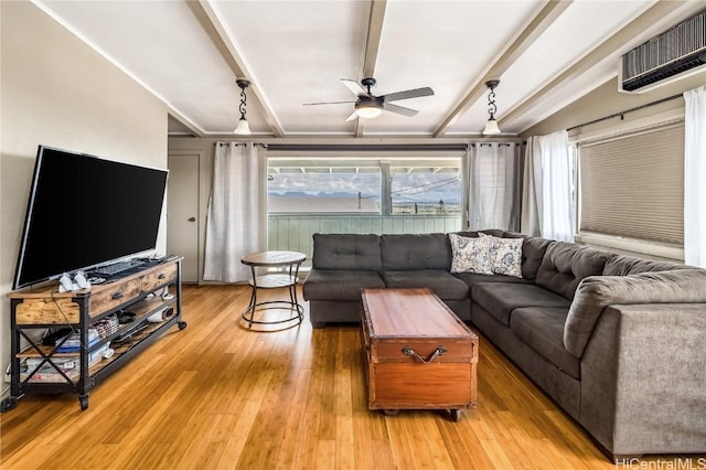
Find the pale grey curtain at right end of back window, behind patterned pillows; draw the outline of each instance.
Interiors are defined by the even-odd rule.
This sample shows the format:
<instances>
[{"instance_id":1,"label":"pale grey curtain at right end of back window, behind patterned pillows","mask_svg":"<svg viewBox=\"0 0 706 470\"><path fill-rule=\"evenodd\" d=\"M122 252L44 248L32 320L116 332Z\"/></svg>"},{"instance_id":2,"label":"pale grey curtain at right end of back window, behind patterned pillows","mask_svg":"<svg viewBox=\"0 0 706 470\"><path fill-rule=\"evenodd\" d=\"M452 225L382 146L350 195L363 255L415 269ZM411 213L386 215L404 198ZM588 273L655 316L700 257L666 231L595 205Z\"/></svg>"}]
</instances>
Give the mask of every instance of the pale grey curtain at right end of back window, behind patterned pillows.
<instances>
[{"instance_id":1,"label":"pale grey curtain at right end of back window, behind patterned pillows","mask_svg":"<svg viewBox=\"0 0 706 470\"><path fill-rule=\"evenodd\" d=\"M515 145L477 143L467 156L468 228L517 231Z\"/></svg>"}]
</instances>

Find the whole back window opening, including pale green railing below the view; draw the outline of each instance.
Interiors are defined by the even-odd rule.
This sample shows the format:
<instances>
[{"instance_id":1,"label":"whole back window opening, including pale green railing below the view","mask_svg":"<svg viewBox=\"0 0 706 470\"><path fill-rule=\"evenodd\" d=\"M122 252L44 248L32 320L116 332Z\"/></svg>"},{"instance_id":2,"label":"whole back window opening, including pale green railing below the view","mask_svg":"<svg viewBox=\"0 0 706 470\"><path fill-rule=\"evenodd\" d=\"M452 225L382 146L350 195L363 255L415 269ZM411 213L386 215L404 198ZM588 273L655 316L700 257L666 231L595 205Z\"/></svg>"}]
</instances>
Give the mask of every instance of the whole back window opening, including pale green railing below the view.
<instances>
[{"instance_id":1,"label":"whole back window opening, including pale green railing below the view","mask_svg":"<svg viewBox=\"0 0 706 470\"><path fill-rule=\"evenodd\" d=\"M312 256L314 233L461 229L461 158L268 159L267 246Z\"/></svg>"}]
</instances>

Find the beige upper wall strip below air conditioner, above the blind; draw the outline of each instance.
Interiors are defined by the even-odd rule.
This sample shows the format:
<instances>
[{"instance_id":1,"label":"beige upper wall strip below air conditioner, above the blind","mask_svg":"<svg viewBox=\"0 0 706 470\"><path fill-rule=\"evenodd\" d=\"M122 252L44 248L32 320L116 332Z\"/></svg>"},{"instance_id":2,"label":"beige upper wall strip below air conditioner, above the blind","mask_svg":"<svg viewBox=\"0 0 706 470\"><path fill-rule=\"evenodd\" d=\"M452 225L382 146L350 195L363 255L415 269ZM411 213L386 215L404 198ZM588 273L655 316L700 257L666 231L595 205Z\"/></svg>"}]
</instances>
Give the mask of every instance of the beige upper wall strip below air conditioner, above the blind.
<instances>
[{"instance_id":1,"label":"beige upper wall strip below air conditioner, above the blind","mask_svg":"<svg viewBox=\"0 0 706 470\"><path fill-rule=\"evenodd\" d=\"M531 127L522 133L522 137L546 136L557 130L568 129L584 122L589 122L616 113L621 113L649 103L657 102L662 98L682 94L704 84L706 84L706 71L684 79L680 79L673 84L655 88L648 93L625 94L618 92L618 78L616 77L566 108L549 116L542 122ZM650 106L634 113L629 113L624 116L624 119L628 120L644 116L652 116L668 109L681 107L684 107L684 98L676 98L656 106ZM592 125L590 130L610 126L619 121L619 117L605 120L600 124Z\"/></svg>"}]
</instances>

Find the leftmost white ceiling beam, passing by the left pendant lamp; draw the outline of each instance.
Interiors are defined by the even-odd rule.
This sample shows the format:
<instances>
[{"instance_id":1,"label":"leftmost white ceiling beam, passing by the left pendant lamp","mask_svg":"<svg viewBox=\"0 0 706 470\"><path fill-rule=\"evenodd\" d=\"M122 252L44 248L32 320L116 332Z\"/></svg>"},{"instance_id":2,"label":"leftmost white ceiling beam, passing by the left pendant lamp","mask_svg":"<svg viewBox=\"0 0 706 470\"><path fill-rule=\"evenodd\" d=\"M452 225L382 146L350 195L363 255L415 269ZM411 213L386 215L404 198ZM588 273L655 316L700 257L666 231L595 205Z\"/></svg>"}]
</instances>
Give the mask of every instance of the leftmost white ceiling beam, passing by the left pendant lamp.
<instances>
[{"instance_id":1,"label":"leftmost white ceiling beam, passing by the left pendant lamp","mask_svg":"<svg viewBox=\"0 0 706 470\"><path fill-rule=\"evenodd\" d=\"M223 23L218 19L208 0L189 1L184 0L189 6L189 9L196 17L201 26L205 30L206 34L216 46L225 62L228 64L235 78L246 78L250 82L248 93L259 105L263 117L270 128L270 131L275 137L284 137L285 130L282 129L279 120L275 116L274 110L268 105L267 99L260 92L259 87L253 81L253 75L248 72L243 61L242 54L236 50L235 45L228 38L228 34L223 26ZM233 81L235 86L235 79Z\"/></svg>"}]
</instances>

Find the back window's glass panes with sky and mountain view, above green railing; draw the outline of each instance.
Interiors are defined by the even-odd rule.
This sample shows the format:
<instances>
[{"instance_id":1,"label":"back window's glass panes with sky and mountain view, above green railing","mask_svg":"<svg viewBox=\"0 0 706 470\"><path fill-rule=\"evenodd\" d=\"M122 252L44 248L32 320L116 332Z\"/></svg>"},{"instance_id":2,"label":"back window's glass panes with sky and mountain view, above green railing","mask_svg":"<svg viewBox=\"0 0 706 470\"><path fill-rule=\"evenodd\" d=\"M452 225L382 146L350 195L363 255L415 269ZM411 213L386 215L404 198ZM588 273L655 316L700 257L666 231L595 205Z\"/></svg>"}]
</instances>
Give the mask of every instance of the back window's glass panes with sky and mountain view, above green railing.
<instances>
[{"instance_id":1,"label":"back window's glass panes with sky and mountain view, above green railing","mask_svg":"<svg viewBox=\"0 0 706 470\"><path fill-rule=\"evenodd\" d=\"M268 212L461 217L460 159L279 159Z\"/></svg>"}]
</instances>

